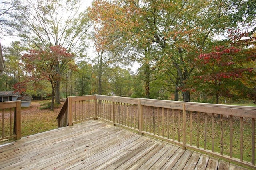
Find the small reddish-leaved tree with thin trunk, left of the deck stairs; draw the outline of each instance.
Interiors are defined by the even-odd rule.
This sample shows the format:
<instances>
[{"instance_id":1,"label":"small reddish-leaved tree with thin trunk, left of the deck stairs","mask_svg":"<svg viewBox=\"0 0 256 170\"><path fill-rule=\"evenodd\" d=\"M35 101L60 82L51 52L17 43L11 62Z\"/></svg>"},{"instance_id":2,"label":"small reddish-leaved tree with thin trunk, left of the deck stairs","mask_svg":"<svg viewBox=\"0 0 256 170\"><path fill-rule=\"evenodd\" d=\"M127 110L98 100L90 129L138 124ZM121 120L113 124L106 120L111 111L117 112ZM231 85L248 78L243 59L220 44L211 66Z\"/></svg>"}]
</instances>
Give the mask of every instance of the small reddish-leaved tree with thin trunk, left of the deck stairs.
<instances>
[{"instance_id":1,"label":"small reddish-leaved tree with thin trunk, left of the deck stairs","mask_svg":"<svg viewBox=\"0 0 256 170\"><path fill-rule=\"evenodd\" d=\"M72 63L74 61L74 55L67 53L63 47L52 46L50 47L50 51L30 50L30 53L22 56L22 60L26 63L24 68L31 75L31 80L35 82L48 80L51 83L51 110L53 110L55 88L58 82L65 78L65 71L67 69L74 70L76 68Z\"/></svg>"}]
</instances>

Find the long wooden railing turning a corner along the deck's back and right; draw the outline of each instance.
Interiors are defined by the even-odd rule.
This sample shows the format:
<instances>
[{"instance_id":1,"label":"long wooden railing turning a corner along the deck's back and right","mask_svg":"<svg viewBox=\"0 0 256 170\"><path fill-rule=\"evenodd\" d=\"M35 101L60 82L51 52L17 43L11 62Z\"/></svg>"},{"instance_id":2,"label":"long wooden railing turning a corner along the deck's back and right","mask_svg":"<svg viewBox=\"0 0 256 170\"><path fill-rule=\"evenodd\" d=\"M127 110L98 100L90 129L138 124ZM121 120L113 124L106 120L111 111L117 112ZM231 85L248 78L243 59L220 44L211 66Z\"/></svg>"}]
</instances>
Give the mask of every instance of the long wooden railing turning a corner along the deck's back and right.
<instances>
[{"instance_id":1,"label":"long wooden railing turning a corner along the deck's back and right","mask_svg":"<svg viewBox=\"0 0 256 170\"><path fill-rule=\"evenodd\" d=\"M102 95L69 97L63 107L59 127L100 119L256 168L256 107Z\"/></svg>"}]
</instances>

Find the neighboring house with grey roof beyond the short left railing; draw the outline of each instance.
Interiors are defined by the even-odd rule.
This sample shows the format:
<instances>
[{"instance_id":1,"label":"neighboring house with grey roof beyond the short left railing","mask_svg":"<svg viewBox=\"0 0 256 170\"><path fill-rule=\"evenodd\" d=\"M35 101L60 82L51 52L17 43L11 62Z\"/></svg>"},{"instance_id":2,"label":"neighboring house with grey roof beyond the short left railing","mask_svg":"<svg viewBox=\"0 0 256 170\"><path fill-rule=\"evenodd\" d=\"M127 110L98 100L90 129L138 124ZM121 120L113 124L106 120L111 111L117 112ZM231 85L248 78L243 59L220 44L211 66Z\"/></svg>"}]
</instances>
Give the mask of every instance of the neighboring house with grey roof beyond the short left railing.
<instances>
[{"instance_id":1,"label":"neighboring house with grey roof beyond the short left railing","mask_svg":"<svg viewBox=\"0 0 256 170\"><path fill-rule=\"evenodd\" d=\"M0 102L7 101L21 101L21 107L29 107L31 105L31 100L33 98L26 94L20 94L19 92L14 93L14 91L0 92Z\"/></svg>"}]
</instances>

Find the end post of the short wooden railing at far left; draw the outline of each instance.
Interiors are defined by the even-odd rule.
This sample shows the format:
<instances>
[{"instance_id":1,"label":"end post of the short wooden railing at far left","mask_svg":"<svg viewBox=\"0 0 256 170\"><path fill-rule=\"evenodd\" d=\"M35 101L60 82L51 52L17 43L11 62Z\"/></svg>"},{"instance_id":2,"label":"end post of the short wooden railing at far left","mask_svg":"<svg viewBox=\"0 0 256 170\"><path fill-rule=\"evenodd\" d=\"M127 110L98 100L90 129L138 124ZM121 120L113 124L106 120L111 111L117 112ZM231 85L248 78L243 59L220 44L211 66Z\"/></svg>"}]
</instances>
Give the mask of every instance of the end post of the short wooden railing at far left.
<instances>
[{"instance_id":1,"label":"end post of the short wooden railing at far left","mask_svg":"<svg viewBox=\"0 0 256 170\"><path fill-rule=\"evenodd\" d=\"M15 108L15 111L14 111L14 115L15 115L15 118L14 118L14 127L15 127L15 131L14 133L16 133L16 137L14 137L15 140L17 139L21 139L21 115L20 115L20 112L21 112L21 101L18 101L16 103L16 108Z\"/></svg>"}]
</instances>

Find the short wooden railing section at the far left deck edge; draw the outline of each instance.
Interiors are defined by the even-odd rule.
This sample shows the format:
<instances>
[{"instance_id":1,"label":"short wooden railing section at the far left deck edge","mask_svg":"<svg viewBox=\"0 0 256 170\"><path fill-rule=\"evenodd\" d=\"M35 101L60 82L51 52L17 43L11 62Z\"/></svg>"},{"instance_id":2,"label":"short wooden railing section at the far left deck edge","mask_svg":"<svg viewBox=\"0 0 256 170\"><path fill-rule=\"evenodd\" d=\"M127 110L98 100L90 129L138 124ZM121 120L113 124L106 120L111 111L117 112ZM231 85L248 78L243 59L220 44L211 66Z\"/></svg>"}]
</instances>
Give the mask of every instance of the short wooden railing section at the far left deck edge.
<instances>
[{"instance_id":1,"label":"short wooden railing section at the far left deck edge","mask_svg":"<svg viewBox=\"0 0 256 170\"><path fill-rule=\"evenodd\" d=\"M0 141L21 139L21 101L0 102Z\"/></svg>"}]
</instances>

